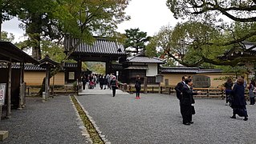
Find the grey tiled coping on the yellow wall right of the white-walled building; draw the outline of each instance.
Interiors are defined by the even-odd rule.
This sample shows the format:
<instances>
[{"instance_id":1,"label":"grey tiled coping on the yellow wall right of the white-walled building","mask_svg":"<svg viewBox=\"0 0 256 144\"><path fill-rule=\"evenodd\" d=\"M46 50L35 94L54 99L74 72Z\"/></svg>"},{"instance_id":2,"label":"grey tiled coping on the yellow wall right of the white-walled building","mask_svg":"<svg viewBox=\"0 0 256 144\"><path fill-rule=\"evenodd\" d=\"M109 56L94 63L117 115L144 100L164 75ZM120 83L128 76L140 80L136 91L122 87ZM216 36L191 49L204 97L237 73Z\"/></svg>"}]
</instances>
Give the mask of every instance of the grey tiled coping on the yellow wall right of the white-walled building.
<instances>
[{"instance_id":1,"label":"grey tiled coping on the yellow wall right of the white-walled building","mask_svg":"<svg viewBox=\"0 0 256 144\"><path fill-rule=\"evenodd\" d=\"M161 73L221 73L219 69L200 69L199 67L161 67Z\"/></svg>"}]
</instances>

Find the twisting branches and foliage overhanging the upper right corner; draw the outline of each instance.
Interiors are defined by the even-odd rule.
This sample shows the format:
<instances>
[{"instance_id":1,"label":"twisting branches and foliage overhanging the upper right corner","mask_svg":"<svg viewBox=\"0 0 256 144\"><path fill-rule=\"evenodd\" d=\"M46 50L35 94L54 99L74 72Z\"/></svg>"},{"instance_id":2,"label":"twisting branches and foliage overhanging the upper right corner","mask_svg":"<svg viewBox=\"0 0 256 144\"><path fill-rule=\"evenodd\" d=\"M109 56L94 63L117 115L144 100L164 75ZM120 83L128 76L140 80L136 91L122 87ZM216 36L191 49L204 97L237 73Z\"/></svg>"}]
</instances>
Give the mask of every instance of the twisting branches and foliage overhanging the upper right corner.
<instances>
[{"instance_id":1,"label":"twisting branches and foliage overhanging the upper right corner","mask_svg":"<svg viewBox=\"0 0 256 144\"><path fill-rule=\"evenodd\" d=\"M209 62L216 65L235 66L239 62L251 60L250 58L234 58L232 61L220 61L213 57L214 54L223 54L223 50L229 50L236 46L243 47L243 41L256 42L256 17L254 15L256 10L256 1L167 0L166 4L173 12L175 18L188 19L190 22L201 22L205 26L209 26L210 30L214 31L214 33L207 29L206 31L204 29L197 29L197 31L194 31L197 34L201 34L201 38L204 38L202 36L204 35L203 33L206 32L205 36L209 38L209 40L205 41L197 37L198 39L194 39L187 45L189 50L196 50L199 54L199 58L196 62L197 64ZM224 15L233 21L225 22L221 15ZM204 51L201 50L202 46L207 46L207 49L209 49L212 54L205 55ZM252 46L250 49L254 47L255 46ZM207 50L205 49L205 51ZM248 50L245 49L245 51Z\"/></svg>"}]
</instances>

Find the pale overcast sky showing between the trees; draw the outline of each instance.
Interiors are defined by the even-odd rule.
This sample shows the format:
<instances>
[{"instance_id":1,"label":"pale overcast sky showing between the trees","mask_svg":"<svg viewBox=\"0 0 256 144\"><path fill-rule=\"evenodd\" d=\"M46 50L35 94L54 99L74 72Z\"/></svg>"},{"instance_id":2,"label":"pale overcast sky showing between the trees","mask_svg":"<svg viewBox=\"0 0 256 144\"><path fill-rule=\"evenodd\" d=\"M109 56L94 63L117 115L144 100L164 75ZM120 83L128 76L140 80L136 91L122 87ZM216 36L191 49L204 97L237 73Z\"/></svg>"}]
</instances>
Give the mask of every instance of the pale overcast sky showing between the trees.
<instances>
[{"instance_id":1,"label":"pale overcast sky showing between the trees","mask_svg":"<svg viewBox=\"0 0 256 144\"><path fill-rule=\"evenodd\" d=\"M175 26L177 20L165 4L166 0L132 0L125 10L131 19L118 26L118 31L139 28L140 31L148 33L148 36L156 34L161 26ZM2 30L15 35L15 42L22 41L24 31L18 28L18 20L14 18L4 22Z\"/></svg>"}]
</instances>

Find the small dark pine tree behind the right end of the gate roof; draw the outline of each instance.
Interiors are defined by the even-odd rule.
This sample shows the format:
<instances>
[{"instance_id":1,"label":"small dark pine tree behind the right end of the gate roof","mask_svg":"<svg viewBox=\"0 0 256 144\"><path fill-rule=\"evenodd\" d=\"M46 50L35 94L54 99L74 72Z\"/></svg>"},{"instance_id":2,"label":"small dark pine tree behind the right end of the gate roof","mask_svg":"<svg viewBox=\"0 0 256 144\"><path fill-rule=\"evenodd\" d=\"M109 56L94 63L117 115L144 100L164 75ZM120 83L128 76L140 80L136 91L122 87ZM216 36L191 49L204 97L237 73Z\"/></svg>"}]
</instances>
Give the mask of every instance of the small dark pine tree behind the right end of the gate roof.
<instances>
[{"instance_id":1,"label":"small dark pine tree behind the right end of the gate roof","mask_svg":"<svg viewBox=\"0 0 256 144\"><path fill-rule=\"evenodd\" d=\"M125 48L135 48L136 51L128 51L128 53L139 53L139 50L144 50L145 43L149 41L147 32L140 31L139 28L125 30L126 41L124 43Z\"/></svg>"}]
</instances>

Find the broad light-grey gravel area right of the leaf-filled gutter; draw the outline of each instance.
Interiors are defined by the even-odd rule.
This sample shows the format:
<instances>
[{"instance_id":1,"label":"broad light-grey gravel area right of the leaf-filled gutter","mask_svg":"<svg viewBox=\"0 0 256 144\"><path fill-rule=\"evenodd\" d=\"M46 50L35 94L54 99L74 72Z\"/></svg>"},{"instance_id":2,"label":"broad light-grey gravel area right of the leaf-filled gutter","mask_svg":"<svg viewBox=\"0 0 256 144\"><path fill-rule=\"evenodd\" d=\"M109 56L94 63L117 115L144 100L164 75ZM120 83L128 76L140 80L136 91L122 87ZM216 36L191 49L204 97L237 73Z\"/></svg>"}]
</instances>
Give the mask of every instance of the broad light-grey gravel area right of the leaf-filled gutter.
<instances>
[{"instance_id":1,"label":"broad light-grey gravel area right of the leaf-filled gutter","mask_svg":"<svg viewBox=\"0 0 256 144\"><path fill-rule=\"evenodd\" d=\"M111 94L77 96L112 143L256 143L256 106L247 106L249 120L231 119L225 100L196 99L194 124L182 124L174 95ZM249 102L247 102L249 103Z\"/></svg>"}]
</instances>

